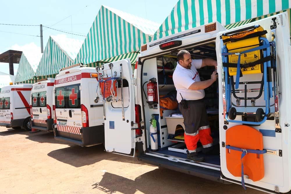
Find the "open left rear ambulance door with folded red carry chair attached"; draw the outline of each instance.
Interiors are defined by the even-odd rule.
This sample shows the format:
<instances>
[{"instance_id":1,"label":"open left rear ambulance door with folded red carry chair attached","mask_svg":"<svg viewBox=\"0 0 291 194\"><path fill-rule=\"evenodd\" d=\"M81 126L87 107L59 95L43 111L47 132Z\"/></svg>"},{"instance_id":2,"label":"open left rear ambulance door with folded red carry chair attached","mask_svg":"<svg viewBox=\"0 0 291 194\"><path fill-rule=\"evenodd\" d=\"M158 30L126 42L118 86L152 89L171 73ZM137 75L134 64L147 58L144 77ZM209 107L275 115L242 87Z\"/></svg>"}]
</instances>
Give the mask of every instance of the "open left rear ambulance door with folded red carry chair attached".
<instances>
[{"instance_id":1,"label":"open left rear ambulance door with folded red carry chair attached","mask_svg":"<svg viewBox=\"0 0 291 194\"><path fill-rule=\"evenodd\" d=\"M104 102L105 149L107 152L134 157L135 130L132 128L136 124L134 124L134 79L130 60L106 63L98 71L98 75L100 74L103 75L101 80L107 80L103 83L99 82L97 88L100 101L106 101ZM115 80L117 91L114 94L115 82L113 82L114 99L111 98L111 101L108 102L107 97L111 94L111 82ZM105 95L103 95L104 93ZM117 102L116 99L118 99Z\"/></svg>"}]
</instances>

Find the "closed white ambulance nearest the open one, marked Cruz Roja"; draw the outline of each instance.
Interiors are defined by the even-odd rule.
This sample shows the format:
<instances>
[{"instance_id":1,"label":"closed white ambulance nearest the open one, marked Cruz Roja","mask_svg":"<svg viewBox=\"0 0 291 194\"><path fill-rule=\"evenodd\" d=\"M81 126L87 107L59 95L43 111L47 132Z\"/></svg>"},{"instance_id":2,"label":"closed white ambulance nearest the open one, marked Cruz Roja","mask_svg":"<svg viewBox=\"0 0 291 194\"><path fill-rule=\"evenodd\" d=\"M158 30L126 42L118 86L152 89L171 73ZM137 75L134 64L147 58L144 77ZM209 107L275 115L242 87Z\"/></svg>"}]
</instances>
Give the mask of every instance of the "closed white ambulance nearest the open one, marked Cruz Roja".
<instances>
[{"instance_id":1,"label":"closed white ambulance nearest the open one, marked Cruz Roja","mask_svg":"<svg viewBox=\"0 0 291 194\"><path fill-rule=\"evenodd\" d=\"M103 104L95 103L95 68L76 64L63 68L54 85L56 140L79 146L104 143Z\"/></svg>"}]
</instances>

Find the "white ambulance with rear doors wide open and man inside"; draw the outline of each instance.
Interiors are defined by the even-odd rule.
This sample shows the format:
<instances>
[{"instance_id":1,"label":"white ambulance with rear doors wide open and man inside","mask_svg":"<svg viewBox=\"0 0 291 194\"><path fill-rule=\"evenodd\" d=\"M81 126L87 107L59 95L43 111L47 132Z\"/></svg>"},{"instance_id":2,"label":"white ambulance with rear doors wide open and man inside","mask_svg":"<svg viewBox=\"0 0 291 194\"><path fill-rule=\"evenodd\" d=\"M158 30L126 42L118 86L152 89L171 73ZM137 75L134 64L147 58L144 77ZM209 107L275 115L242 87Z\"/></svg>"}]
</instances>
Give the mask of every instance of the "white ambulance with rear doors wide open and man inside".
<instances>
[{"instance_id":1,"label":"white ambulance with rear doors wide open and man inside","mask_svg":"<svg viewBox=\"0 0 291 194\"><path fill-rule=\"evenodd\" d=\"M128 88L124 89L128 95L123 99L127 103L124 107L116 106L119 102L104 102L106 151L131 157L136 155L139 161L213 181L242 184L268 193L289 192L289 23L285 12L235 29L226 30L214 22L149 42L141 47L133 77L129 60L113 62L112 71L117 73L112 75L107 71L107 79L125 79ZM260 28L265 33L253 35L254 40L231 41L238 35L244 37L244 33L248 35ZM230 39L225 45L223 37L227 36ZM251 40L256 43L251 45ZM249 44L246 49L245 44ZM149 97L145 87L145 83L157 79L156 89L152 90L157 91L157 97L175 90L170 78L181 49L188 50L193 58L213 58L218 63L218 88L205 89L204 101L212 135L218 134L220 152L205 155L204 162L187 159L185 147L180 145L183 138L178 136L183 120L179 121L181 115L178 113L171 117L178 110L164 111L161 118L159 100L149 103L153 97ZM237 68L240 71L237 72ZM104 70L109 69L110 65L105 64ZM201 81L210 79L213 71L210 67L198 69ZM157 120L159 147L155 152L150 147L153 134L149 131L149 122L152 116Z\"/></svg>"}]
</instances>

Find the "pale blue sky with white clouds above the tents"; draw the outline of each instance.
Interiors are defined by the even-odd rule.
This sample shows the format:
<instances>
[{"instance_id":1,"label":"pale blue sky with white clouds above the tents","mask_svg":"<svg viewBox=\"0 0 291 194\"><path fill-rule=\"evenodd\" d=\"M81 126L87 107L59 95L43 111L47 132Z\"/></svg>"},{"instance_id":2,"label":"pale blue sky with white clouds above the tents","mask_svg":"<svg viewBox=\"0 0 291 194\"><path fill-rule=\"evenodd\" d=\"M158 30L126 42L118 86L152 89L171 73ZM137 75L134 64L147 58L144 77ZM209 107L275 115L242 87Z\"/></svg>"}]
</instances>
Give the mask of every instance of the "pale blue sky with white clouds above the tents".
<instances>
[{"instance_id":1,"label":"pale blue sky with white clouds above the tents","mask_svg":"<svg viewBox=\"0 0 291 194\"><path fill-rule=\"evenodd\" d=\"M62 31L87 35L101 5L106 5L161 24L177 2L178 0L3 0L1 1L0 23L42 24ZM33 63L37 63L40 56L40 38L35 37L37 35L40 35L39 26L0 25L0 53L8 49L22 50L25 52L25 55L28 55L28 59L31 58ZM49 35L61 38L65 36L67 39L63 38L64 41L74 39L76 42L79 41L80 44L85 38L84 36L70 35L43 28L44 48ZM0 71L9 73L8 64L0 63L0 65ZM15 64L14 66L16 75L18 65Z\"/></svg>"}]
</instances>

